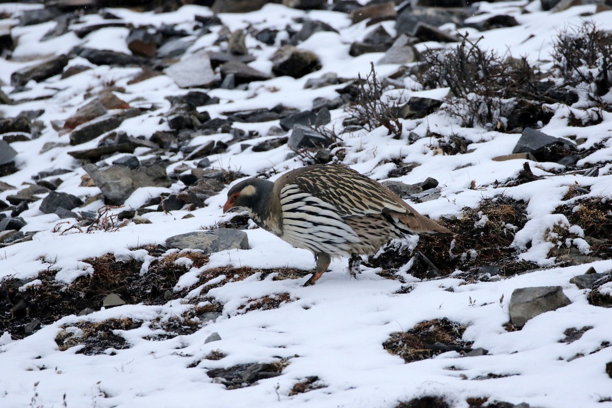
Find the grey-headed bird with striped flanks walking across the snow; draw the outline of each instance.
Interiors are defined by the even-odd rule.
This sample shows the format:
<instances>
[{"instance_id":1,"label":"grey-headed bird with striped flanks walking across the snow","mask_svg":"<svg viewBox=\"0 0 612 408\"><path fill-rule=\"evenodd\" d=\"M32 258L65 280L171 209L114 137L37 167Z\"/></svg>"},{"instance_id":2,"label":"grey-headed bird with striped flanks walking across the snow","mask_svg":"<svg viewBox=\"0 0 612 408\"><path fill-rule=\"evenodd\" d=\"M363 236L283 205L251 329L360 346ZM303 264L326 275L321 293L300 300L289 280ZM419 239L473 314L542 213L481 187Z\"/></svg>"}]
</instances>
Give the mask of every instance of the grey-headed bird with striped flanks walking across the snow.
<instances>
[{"instance_id":1,"label":"grey-headed bird with striped flanks walking across the snow","mask_svg":"<svg viewBox=\"0 0 612 408\"><path fill-rule=\"evenodd\" d=\"M223 213L244 207L255 223L315 256L314 284L332 258L373 254L392 239L453 232L418 213L378 181L341 164L310 165L275 182L250 178L228 191Z\"/></svg>"}]
</instances>

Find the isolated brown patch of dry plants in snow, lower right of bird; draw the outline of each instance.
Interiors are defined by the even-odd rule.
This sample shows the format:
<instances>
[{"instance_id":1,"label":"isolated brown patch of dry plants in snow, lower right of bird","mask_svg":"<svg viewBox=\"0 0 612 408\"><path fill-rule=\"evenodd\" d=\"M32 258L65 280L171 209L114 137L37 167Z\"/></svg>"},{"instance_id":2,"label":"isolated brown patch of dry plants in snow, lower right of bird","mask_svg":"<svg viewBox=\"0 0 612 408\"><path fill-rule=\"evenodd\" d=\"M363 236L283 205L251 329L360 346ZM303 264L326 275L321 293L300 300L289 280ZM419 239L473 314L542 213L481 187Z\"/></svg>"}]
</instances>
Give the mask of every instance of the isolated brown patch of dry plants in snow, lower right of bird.
<instances>
[{"instance_id":1,"label":"isolated brown patch of dry plants in snow, lower right of bird","mask_svg":"<svg viewBox=\"0 0 612 408\"><path fill-rule=\"evenodd\" d=\"M449 350L470 351L472 343L461 339L463 332L465 327L444 317L420 322L407 332L391 333L383 347L390 354L411 363ZM442 347L436 343L442 343Z\"/></svg>"}]
</instances>

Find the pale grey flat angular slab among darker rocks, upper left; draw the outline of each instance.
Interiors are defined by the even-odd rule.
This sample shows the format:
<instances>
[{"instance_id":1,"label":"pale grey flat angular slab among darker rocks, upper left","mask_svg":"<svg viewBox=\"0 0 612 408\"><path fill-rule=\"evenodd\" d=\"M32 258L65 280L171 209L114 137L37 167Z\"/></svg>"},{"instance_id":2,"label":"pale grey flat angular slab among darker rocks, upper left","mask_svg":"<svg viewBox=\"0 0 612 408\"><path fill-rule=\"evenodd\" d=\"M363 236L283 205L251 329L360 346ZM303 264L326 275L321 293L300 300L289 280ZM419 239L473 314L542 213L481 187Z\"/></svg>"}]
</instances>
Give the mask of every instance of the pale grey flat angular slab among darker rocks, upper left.
<instances>
[{"instance_id":1,"label":"pale grey flat angular slab among darker rocks, upper left","mask_svg":"<svg viewBox=\"0 0 612 408\"><path fill-rule=\"evenodd\" d=\"M206 51L198 51L163 70L182 88L210 86L215 82L211 59Z\"/></svg>"}]
</instances>

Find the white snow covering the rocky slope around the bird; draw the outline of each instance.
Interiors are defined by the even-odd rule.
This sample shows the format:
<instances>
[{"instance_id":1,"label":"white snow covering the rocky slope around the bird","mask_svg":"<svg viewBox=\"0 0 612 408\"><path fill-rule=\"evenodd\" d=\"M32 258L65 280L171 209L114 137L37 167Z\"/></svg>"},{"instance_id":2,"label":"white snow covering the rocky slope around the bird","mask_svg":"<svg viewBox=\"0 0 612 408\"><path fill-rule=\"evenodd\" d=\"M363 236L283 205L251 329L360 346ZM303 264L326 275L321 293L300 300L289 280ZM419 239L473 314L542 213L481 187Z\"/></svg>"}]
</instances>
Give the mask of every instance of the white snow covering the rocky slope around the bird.
<instances>
[{"instance_id":1,"label":"white snow covering the rocky slope around the bird","mask_svg":"<svg viewBox=\"0 0 612 408\"><path fill-rule=\"evenodd\" d=\"M31 7L25 4L2 4L0 12L18 13ZM593 13L594 5L571 7L559 13L542 12L539 2L507 1L479 3L480 12L485 14L472 17L472 21L510 13L520 25L512 28L494 29L486 32L470 31L475 37L483 36L480 46L496 50L500 54L527 56L529 61L549 59L554 35L567 26L580 24L584 13ZM521 13L526 7L529 13ZM161 26L193 21L195 15L212 15L206 7L184 6L177 12L157 14L138 13L127 9L109 9L109 12L135 26ZM289 77L274 78L252 83L248 91L214 89L212 97L219 97L218 105L201 106L212 117L224 116L231 111L247 109L270 109L278 103L296 109L312 108L317 97L333 98L335 89L346 86L327 86L319 89L303 89L309 78L319 78L326 72L351 78L358 73L365 77L370 72L370 62L378 61L382 53L350 57L349 44L364 36L365 22L349 26L349 18L342 13L304 12L288 9L278 4L269 4L252 13L219 16L231 29L252 26L260 28L285 29L289 25L299 29L296 18L309 17L321 20L338 29L334 32L318 32L300 48L318 53L323 69L294 80ZM612 29L612 12L591 15L601 29ZM83 22L73 28L101 23L99 15L87 15ZM393 24L381 23L387 31L393 32ZM17 47L13 59L0 59L0 83L10 83L10 74L22 67L36 64L28 61L33 57L68 53L73 46L83 45L103 50L121 51L131 54L125 45L127 28L103 28L79 39L69 32L45 42L40 38L54 28L53 23L13 28ZM217 35L200 37L190 52L200 48L212 49ZM261 45L261 44L259 44ZM278 44L277 44L278 45ZM422 44L419 47L424 46ZM252 67L271 72L269 56L274 47L261 45L256 51L258 59ZM218 48L218 47L217 47ZM70 65L91 65L82 59L72 60ZM380 75L389 75L398 65L376 66ZM12 143L17 150L17 166L14 174L0 177L0 180L21 186L31 182L31 177L43 170L69 168L73 172L62 174L63 183L58 191L77 196L92 196L99 192L95 187L80 187L80 176L84 174L78 160L66 152L97 146L100 138L78 147L58 147L40 154L42 146L50 141L68 143L68 135L59 136L53 130L51 121L63 122L82 106L84 92L102 89L105 81L116 81L125 88L124 98L132 106L155 106L147 115L134 117L123 122L116 131L125 131L133 136L150 138L154 132L168 130L168 124L161 121L169 108L165 99L168 95L185 93L162 75L141 83L128 85L135 69L93 67L65 80L53 78L46 83L31 81L31 91L13 94L12 97L26 98L32 95L51 95L18 106L0 106L0 113L6 117L16 116L24 109L44 108L39 118L47 124L40 138L30 142ZM60 91L45 89L49 83ZM2 86L3 91L12 87ZM443 98L448 89L411 92L409 95ZM8 94L9 92L7 92ZM140 100L143 98L143 100ZM569 108L554 107L556 113L542 132L553 136L576 136L584 138L584 146L591 147L602 141L605 146L578 162L579 165L609 160L612 154L610 124L612 114L603 113L603 122L592 127L568 127ZM341 110L332 111L332 118L340 125L345 118ZM0 115L1 116L1 115ZM271 139L265 136L277 122L258 124L235 124L234 127L256 130L261 138L255 142ZM597 177L580 174L554 173L559 165L529 161L536 176L544 176L535 182L516 187L494 187L494 182L515 177L525 160L493 161L494 157L512 152L519 135L485 131L477 128L462 128L456 119L440 112L430 115L428 122L406 121L405 132L424 136L428 130L442 135L460 133L472 141L470 151L461 155L436 155L438 141L420 138L412 144L406 139L392 139L386 129L373 132L356 132L343 136L346 147L344 163L374 179L386 179L392 165L389 160L401 158L406 163L419 163L406 176L397 177L407 184L422 182L427 177L439 181L441 198L433 201L412 203L419 212L436 218L442 215L460 215L463 207L476 207L483 198L505 195L528 202L529 220L517 231L512 243L521 251L520 258L534 261L543 267L531 273L512 276L488 282L470 283L452 275L437 280L418 280L409 275L409 265L400 270L414 290L408 294L397 294L401 283L386 280L377 275L378 270L363 267L357 279L351 278L346 270L346 258L335 259L315 286L302 287L307 278L272 280L274 274L261 279L259 275L249 276L242 281L214 287L209 295L224 303L223 315L216 321L208 322L190 335L151 341L147 336L155 331L149 328L149 321L181 316L193 308L188 299L171 300L163 305L122 305L102 308L87 316L66 316L53 324L43 325L34 334L20 340L10 338L9 333L0 333L0 406L62 406L68 407L176 407L201 406L225 407L394 407L399 401L426 395L442 395L453 407L467 408L466 398L488 397L490 401L518 404L527 402L531 407L589 408L610 407L612 402L599 402L612 396L612 380L605 373L605 363L612 361L612 347L597 349L602 342L612 341L610 310L589 305L583 289L570 284L573 276L581 275L589 267L597 272L612 270L612 260L591 262L570 267L554 267L554 258L547 258L548 251L555 245L550 234L554 226L567 230L574 238L573 245L582 253L589 252L589 245L583 239L584 231L573 226L564 215L553 213L564 201L570 185L578 183L591 187L591 197L610 197L612 194L612 168L603 167ZM229 135L200 136L192 145L208 140L229 141ZM289 169L301 166L299 161L287 158L291 150L286 146L269 152L242 151L239 144L231 146L228 152L211 155L212 168L240 171L255 176L262 171L271 171L272 180ZM144 150L137 150L143 152ZM106 159L110 163L116 158ZM185 161L182 154L170 155L170 161L194 165L198 160ZM385 164L387 163L387 164ZM535 166L537 164L537 167ZM469 165L469 166L468 166ZM470 189L471 183L481 186ZM136 190L125 202L123 209L136 209L162 192L176 192L182 185L171 188L147 187ZM20 187L21 188L21 187ZM0 250L0 277L36 278L49 265L59 270L56 280L71 283L79 276L91 275L92 266L83 259L114 253L117 258L131 257L145 262L151 258L140 248L143 245L164 243L177 234L209 228L229 218L222 215L226 191L207 199L206 207L188 212L177 210L169 213L151 212L143 215L152 224L133 224L116 232L94 232L93 234L72 233L61 235L54 232L60 221L54 214L43 214L32 203L22 213L28 224L23 231L39 231L30 242L10 245ZM6 201L15 190L0 193ZM97 210L100 200L84 207ZM188 213L195 217L183 218ZM67 220L70 223L75 220ZM483 215L476 227L487 223ZM174 291L191 287L198 281L198 275L207 269L233 265L261 269L294 268L310 270L313 267L312 254L291 247L263 229L248 229L250 249L229 250L211 254L203 267L195 267L187 258L176 263L190 269L179 278ZM550 267L545 269L544 267ZM218 278L222 281L223 276ZM211 281L213 286L217 281ZM36 291L40 280L21 286L20 291ZM543 313L527 322L522 330L507 332L502 325L509 321L509 301L514 289L526 286L561 286L572 304L559 310ZM452 288L453 291L446 289ZM193 288L193 292L198 292ZM612 285L602 287L602 292L612 294ZM249 299L272 294L289 294L291 302L274 310L255 310L244 313L241 309ZM145 321L140 328L118 330L130 344L130 348L109 351L102 355L76 354L80 346L59 351L54 339L67 327L76 336L82 335L75 326L81 321L101 322L110 318L131 317ZM392 332L408 330L419 322L447 317L468 326L464 338L474 341L473 347L483 347L488 355L460 357L457 352L447 352L436 358L413 363L404 363L400 357L389 354L382 343ZM563 332L569 327L592 326L573 343L559 343ZM220 341L204 343L211 333L217 332ZM220 349L227 356L222 360L206 360L209 352ZM597 352L595 352L597 351ZM112 355L111 355L112 354ZM576 355L584 357L574 358ZM226 390L206 375L212 368L227 368L244 363L274 362L279 358L290 358L289 365L281 376L259 380L257 385L237 390ZM475 380L489 373L509 375L496 379ZM325 388L295 396L289 391L296 382L308 376L318 376ZM34 402L32 402L34 401Z\"/></svg>"}]
</instances>

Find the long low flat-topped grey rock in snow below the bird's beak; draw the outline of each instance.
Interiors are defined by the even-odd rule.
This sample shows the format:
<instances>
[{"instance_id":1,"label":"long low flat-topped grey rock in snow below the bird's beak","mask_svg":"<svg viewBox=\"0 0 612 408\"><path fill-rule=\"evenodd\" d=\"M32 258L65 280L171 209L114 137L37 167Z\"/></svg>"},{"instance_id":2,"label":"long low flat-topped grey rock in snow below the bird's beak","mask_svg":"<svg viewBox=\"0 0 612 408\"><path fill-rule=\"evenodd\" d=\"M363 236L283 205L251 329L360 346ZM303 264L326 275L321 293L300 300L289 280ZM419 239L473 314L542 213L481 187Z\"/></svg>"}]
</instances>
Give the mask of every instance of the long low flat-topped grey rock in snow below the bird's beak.
<instances>
[{"instance_id":1,"label":"long low flat-topped grey rock in snow below the bird's beak","mask_svg":"<svg viewBox=\"0 0 612 408\"><path fill-rule=\"evenodd\" d=\"M166 239L168 248L189 248L214 253L231 249L248 250L247 233L239 229L218 228L212 231L188 232Z\"/></svg>"}]
</instances>

